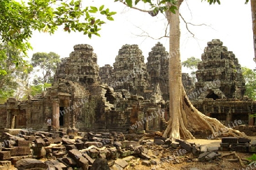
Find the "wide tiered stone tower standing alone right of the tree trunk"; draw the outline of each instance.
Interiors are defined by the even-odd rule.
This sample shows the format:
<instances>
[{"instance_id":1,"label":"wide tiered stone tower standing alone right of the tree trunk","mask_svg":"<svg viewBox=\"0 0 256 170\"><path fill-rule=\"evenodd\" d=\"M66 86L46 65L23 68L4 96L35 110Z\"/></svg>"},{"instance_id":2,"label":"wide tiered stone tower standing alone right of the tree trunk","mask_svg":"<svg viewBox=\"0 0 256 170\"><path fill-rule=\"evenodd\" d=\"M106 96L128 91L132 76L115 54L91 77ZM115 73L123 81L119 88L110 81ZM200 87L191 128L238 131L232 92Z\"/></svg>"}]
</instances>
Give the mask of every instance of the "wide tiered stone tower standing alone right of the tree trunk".
<instances>
[{"instance_id":1,"label":"wide tiered stone tower standing alone right of the tree trunk","mask_svg":"<svg viewBox=\"0 0 256 170\"><path fill-rule=\"evenodd\" d=\"M197 97L203 98L237 98L245 93L245 81L241 65L232 51L222 46L222 42L213 39L207 43L202 61L196 72Z\"/></svg>"}]
</instances>

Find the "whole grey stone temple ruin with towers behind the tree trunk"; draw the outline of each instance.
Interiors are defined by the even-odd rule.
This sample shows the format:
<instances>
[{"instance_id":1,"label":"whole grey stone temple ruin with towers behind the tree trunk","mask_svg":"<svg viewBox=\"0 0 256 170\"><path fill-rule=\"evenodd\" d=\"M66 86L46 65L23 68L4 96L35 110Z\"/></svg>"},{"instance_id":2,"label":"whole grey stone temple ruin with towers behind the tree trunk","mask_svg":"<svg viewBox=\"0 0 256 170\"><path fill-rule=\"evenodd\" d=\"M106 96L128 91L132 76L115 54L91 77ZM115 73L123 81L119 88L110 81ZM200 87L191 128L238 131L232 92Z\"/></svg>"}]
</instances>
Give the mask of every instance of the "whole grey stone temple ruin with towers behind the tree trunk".
<instances>
[{"instance_id":1,"label":"whole grey stone temple ruin with towers behind the tree trunk","mask_svg":"<svg viewBox=\"0 0 256 170\"><path fill-rule=\"evenodd\" d=\"M188 74L182 75L193 105L226 125L236 119L254 125L249 115L256 102L243 97L240 64L220 40L208 42L198 69L195 88ZM123 45L113 67L101 68L93 47L79 44L61 59L51 88L27 101L9 98L0 105L0 128L46 130L50 116L53 130L67 134L162 131L169 118L168 92L168 52L162 44L155 44L146 64L138 45Z\"/></svg>"}]
</instances>

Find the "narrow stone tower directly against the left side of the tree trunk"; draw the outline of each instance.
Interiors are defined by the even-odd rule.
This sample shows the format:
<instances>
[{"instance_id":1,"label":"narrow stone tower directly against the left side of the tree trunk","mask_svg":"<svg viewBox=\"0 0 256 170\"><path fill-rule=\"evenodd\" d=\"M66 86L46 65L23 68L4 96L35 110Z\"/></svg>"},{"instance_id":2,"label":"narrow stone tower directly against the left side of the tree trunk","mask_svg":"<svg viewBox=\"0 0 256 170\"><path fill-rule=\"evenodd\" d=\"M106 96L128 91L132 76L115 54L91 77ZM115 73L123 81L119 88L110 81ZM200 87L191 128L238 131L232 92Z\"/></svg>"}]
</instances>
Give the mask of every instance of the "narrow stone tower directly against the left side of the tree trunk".
<instances>
[{"instance_id":1,"label":"narrow stone tower directly against the left side of the tree trunk","mask_svg":"<svg viewBox=\"0 0 256 170\"><path fill-rule=\"evenodd\" d=\"M147 72L150 84L159 84L164 100L169 99L168 52L163 44L157 43L147 57Z\"/></svg>"}]
</instances>

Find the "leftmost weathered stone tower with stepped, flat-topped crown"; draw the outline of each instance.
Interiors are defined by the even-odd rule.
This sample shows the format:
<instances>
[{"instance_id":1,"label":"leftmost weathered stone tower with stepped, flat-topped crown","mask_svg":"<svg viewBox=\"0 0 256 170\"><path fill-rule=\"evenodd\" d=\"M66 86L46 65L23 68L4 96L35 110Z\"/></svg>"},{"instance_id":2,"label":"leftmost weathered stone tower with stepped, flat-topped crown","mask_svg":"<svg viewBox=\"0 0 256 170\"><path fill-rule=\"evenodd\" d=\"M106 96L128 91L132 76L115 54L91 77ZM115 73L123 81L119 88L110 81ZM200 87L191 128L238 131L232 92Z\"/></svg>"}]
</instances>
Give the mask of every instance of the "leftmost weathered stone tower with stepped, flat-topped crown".
<instances>
[{"instance_id":1,"label":"leftmost weathered stone tower with stepped, flat-topped crown","mask_svg":"<svg viewBox=\"0 0 256 170\"><path fill-rule=\"evenodd\" d=\"M88 44L74 46L69 58L61 59L57 66L55 81L59 78L90 85L100 81L97 55Z\"/></svg>"}]
</instances>

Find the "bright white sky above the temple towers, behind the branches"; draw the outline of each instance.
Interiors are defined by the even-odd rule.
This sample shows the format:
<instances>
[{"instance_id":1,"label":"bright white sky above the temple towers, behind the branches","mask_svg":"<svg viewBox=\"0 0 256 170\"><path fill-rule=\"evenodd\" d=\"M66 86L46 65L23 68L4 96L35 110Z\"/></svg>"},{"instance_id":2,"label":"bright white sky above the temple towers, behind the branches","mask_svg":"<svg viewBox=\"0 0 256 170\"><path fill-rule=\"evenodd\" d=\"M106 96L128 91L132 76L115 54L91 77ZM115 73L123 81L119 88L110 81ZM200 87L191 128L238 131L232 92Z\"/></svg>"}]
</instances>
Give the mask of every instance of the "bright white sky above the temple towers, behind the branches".
<instances>
[{"instance_id":1,"label":"bright white sky above the temple towers, behind the branches","mask_svg":"<svg viewBox=\"0 0 256 170\"><path fill-rule=\"evenodd\" d=\"M61 29L54 35L34 32L30 40L34 49L29 52L29 55L32 56L35 52L52 51L61 57L68 57L75 44L90 44L98 56L98 65L102 67L104 64L113 65L118 50L124 44L138 44L142 49L145 63L148 52L157 42L162 43L169 51L167 38L155 40L164 35L166 28L167 22L162 14L152 17L147 13L113 2L113 0L84 0L84 5L99 7L102 4L110 11L117 11L117 14L113 16L114 21L107 21L102 26L102 30L99 32L100 38L93 36L92 39L89 39L82 33L68 34ZM146 6L142 4L139 7L146 9ZM181 61L191 56L201 59L207 42L212 39L220 39L229 51L233 51L242 66L255 68L250 3L245 5L243 0L222 0L221 5L209 5L201 0L187 0L181 5L180 13L187 22L208 25L189 26L189 29L195 34L195 38L192 38L192 35L186 30L184 22L180 20ZM137 36L142 34L142 30L155 39ZM187 71L184 69L184 72Z\"/></svg>"}]
</instances>

